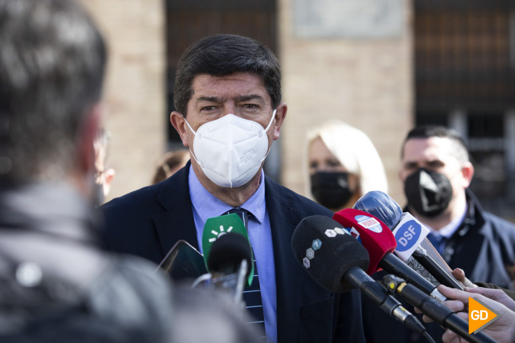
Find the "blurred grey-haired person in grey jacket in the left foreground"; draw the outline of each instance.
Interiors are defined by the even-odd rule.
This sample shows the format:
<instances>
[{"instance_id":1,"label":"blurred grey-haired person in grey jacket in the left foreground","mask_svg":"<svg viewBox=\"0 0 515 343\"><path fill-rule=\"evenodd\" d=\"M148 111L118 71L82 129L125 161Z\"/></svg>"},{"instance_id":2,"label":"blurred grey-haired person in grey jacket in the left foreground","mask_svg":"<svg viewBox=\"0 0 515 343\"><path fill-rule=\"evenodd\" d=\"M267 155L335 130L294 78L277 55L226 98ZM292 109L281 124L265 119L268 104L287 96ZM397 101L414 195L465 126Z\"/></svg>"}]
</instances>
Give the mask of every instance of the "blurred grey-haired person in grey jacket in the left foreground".
<instances>
[{"instance_id":1,"label":"blurred grey-haired person in grey jacket in the left foreground","mask_svg":"<svg viewBox=\"0 0 515 343\"><path fill-rule=\"evenodd\" d=\"M168 342L171 287L98 244L106 48L68 0L0 0L0 341Z\"/></svg>"}]
</instances>

